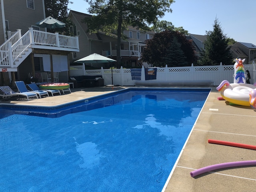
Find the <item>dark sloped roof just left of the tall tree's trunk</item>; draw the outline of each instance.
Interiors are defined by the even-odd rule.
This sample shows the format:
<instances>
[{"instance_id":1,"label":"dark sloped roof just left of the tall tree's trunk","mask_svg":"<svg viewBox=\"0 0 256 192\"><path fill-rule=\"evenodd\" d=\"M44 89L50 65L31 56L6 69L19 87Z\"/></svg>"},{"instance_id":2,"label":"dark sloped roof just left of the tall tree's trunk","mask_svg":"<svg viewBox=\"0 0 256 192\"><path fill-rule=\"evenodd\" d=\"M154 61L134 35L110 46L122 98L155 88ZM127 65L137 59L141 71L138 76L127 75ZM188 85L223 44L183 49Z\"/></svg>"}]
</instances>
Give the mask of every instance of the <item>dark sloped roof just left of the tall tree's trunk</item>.
<instances>
[{"instance_id":1,"label":"dark sloped roof just left of the tall tree's trunk","mask_svg":"<svg viewBox=\"0 0 256 192\"><path fill-rule=\"evenodd\" d=\"M93 39L93 40L101 40L100 36L97 33L88 33L88 26L86 23L82 22L82 20L85 17L92 17L92 15L89 14L85 14L85 13L81 13L81 12L77 12L77 11L73 11L70 10L69 14L72 14L74 16L74 18L77 20L77 22L79 23L79 25L81 26L81 28L84 30L84 32L86 33L86 35L88 36L89 39Z\"/></svg>"}]
</instances>

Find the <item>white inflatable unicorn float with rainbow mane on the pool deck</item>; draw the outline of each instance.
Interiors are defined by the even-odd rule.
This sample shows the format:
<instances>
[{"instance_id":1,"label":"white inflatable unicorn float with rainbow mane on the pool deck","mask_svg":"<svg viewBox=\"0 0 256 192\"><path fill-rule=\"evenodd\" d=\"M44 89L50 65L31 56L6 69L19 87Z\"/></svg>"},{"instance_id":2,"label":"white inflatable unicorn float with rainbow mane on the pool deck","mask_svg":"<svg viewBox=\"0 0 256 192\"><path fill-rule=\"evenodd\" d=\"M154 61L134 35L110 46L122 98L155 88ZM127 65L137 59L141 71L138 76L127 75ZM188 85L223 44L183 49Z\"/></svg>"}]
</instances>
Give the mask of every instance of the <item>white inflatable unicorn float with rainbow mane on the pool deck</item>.
<instances>
[{"instance_id":1,"label":"white inflatable unicorn float with rainbow mane on the pool deck","mask_svg":"<svg viewBox=\"0 0 256 192\"><path fill-rule=\"evenodd\" d=\"M253 85L246 84L243 65L245 59L241 60L239 58L234 61L234 83L224 80L217 87L217 90L220 92L222 98L230 103L251 106L256 109L256 82Z\"/></svg>"}]
</instances>

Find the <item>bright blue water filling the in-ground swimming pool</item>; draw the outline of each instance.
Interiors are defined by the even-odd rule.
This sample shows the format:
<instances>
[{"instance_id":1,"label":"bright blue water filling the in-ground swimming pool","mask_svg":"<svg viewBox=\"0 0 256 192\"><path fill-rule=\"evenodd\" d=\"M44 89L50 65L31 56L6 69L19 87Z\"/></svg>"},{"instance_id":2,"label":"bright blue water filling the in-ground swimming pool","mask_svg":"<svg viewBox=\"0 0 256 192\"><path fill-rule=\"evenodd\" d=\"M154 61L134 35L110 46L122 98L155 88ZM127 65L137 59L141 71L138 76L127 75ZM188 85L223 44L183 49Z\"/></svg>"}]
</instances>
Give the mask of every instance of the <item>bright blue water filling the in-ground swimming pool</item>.
<instances>
[{"instance_id":1,"label":"bright blue water filling the in-ground swimming pool","mask_svg":"<svg viewBox=\"0 0 256 192\"><path fill-rule=\"evenodd\" d=\"M0 191L160 192L210 92L140 90L0 108Z\"/></svg>"}]
</instances>

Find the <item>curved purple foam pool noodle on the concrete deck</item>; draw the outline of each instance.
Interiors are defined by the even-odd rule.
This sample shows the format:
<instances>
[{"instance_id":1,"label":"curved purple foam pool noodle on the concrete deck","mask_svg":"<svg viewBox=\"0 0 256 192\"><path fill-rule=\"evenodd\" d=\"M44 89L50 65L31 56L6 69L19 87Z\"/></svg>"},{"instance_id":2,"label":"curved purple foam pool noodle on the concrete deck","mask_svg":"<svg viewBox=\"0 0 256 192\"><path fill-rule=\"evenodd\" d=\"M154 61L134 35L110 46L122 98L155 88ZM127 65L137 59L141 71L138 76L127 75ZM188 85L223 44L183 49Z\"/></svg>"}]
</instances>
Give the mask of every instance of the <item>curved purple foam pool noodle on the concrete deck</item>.
<instances>
[{"instance_id":1,"label":"curved purple foam pool noodle on the concrete deck","mask_svg":"<svg viewBox=\"0 0 256 192\"><path fill-rule=\"evenodd\" d=\"M249 166L249 165L256 165L256 160L252 161L236 161L236 162L228 162L228 163L221 163L221 164L215 164L210 165L207 167L203 167L197 170L194 170L190 172L190 176L195 177L202 173L209 172L216 169L223 169L223 168L229 168L229 167L238 167L238 166Z\"/></svg>"}]
</instances>

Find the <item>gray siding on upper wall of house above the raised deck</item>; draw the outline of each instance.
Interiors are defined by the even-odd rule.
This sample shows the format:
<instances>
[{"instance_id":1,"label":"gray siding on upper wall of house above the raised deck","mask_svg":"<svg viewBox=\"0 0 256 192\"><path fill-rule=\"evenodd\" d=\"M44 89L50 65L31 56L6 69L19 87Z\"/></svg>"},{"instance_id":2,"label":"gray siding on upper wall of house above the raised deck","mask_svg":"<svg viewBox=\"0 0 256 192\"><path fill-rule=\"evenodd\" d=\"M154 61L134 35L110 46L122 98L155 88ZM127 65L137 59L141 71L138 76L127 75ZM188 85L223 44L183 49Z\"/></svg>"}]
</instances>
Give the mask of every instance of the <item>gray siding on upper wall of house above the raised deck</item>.
<instances>
[{"instance_id":1,"label":"gray siding on upper wall of house above the raised deck","mask_svg":"<svg viewBox=\"0 0 256 192\"><path fill-rule=\"evenodd\" d=\"M4 0L5 20L8 20L10 30L21 29L23 35L29 27L44 19L43 1L34 0L34 7L34 10L27 8L26 0Z\"/></svg>"}]
</instances>

